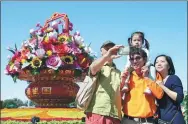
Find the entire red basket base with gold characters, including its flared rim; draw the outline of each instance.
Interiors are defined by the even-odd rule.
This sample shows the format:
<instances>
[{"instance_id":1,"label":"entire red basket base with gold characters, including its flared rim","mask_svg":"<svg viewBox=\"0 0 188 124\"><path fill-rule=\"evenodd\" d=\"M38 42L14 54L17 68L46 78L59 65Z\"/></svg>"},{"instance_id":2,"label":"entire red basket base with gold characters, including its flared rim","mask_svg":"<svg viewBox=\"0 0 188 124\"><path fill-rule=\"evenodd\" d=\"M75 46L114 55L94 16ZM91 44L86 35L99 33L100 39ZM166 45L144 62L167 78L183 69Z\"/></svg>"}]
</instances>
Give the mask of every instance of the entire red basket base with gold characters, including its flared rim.
<instances>
[{"instance_id":1,"label":"entire red basket base with gold characters, including its flared rim","mask_svg":"<svg viewBox=\"0 0 188 124\"><path fill-rule=\"evenodd\" d=\"M37 103L37 107L42 108L69 107L79 90L79 86L74 83L72 70L61 70L55 76L53 70L43 70L35 76L25 71L19 75L19 79L30 82L25 94Z\"/></svg>"}]
</instances>

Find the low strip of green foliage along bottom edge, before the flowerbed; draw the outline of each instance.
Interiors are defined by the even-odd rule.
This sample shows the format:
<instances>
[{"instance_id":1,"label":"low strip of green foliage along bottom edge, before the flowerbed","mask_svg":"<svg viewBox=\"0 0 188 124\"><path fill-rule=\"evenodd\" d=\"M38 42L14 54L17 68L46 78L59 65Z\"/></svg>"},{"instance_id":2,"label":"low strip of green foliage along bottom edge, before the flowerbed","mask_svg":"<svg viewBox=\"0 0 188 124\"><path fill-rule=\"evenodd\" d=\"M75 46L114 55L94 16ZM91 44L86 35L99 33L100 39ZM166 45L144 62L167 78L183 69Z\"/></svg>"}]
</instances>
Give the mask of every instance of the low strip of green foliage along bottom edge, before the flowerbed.
<instances>
[{"instance_id":1,"label":"low strip of green foliage along bottom edge, before the flowerbed","mask_svg":"<svg viewBox=\"0 0 188 124\"><path fill-rule=\"evenodd\" d=\"M21 121L1 121L1 124L31 124L31 122L21 122ZM81 121L41 121L37 124L85 124Z\"/></svg>"}]
</instances>

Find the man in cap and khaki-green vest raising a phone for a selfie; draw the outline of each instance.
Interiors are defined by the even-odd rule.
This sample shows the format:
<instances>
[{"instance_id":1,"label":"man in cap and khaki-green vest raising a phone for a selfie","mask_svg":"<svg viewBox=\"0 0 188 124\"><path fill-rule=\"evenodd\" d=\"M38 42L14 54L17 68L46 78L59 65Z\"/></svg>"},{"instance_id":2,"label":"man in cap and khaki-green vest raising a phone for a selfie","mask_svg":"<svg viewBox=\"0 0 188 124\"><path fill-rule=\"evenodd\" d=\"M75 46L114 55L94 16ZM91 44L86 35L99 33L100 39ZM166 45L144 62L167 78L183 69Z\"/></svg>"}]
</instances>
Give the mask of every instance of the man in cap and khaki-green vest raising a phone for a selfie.
<instances>
[{"instance_id":1,"label":"man in cap and khaki-green vest raising a phone for a selfie","mask_svg":"<svg viewBox=\"0 0 188 124\"><path fill-rule=\"evenodd\" d=\"M100 48L102 57L90 65L90 75L98 77L96 91L85 111L86 124L120 124L121 72L113 63L113 59L120 57L117 55L120 47L106 41Z\"/></svg>"}]
</instances>

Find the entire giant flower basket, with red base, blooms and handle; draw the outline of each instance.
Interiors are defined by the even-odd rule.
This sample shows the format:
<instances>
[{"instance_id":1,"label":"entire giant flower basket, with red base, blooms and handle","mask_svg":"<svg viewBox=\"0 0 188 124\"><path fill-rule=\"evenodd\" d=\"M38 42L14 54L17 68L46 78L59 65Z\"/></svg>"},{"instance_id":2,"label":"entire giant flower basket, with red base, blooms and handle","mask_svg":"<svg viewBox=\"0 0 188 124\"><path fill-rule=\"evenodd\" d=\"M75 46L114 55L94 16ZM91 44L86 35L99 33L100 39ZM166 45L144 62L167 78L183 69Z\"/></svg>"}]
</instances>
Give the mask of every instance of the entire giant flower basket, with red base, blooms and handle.
<instances>
[{"instance_id":1,"label":"entire giant flower basket, with red base, blooms and handle","mask_svg":"<svg viewBox=\"0 0 188 124\"><path fill-rule=\"evenodd\" d=\"M87 74L95 54L66 14L54 13L44 26L30 30L20 49L8 48L5 73L29 82L25 94L39 107L68 107L79 90L75 83Z\"/></svg>"}]
</instances>

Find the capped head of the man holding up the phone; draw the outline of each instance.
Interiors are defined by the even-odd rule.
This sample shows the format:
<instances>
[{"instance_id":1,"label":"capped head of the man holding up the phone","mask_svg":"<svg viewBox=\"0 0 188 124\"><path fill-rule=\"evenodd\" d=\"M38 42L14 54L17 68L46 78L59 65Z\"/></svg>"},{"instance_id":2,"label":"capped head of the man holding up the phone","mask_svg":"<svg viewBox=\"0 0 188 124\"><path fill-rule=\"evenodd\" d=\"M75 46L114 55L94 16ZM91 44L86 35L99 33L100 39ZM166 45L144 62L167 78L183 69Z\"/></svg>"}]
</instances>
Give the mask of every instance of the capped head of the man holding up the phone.
<instances>
[{"instance_id":1,"label":"capped head of the man holding up the phone","mask_svg":"<svg viewBox=\"0 0 188 124\"><path fill-rule=\"evenodd\" d=\"M104 54L106 54L108 52L108 50L112 47L115 46L115 43L113 43L112 41L108 40L108 41L105 41L100 50L101 50L101 55L103 56Z\"/></svg>"}]
</instances>

